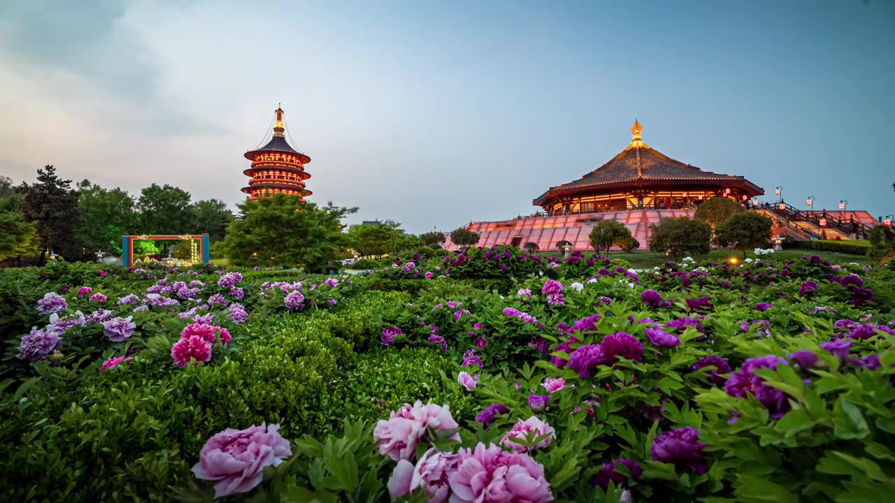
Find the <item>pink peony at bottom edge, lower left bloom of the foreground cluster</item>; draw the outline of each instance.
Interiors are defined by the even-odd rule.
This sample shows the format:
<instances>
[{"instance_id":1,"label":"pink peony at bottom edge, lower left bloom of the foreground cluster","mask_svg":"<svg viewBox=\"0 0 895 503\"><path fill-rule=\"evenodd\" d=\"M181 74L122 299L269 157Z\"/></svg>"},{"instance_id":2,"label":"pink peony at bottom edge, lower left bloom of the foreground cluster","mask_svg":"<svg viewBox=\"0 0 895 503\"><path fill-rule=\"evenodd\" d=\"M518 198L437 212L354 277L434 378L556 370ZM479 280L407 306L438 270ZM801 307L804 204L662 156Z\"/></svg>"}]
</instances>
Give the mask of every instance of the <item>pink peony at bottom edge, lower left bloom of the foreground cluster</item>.
<instances>
[{"instance_id":1,"label":"pink peony at bottom edge, lower left bloom of the foreground cluster","mask_svg":"<svg viewBox=\"0 0 895 503\"><path fill-rule=\"evenodd\" d=\"M456 454L439 452L430 448L420 461L413 463L401 459L388 479L388 493L397 499L421 487L430 495L429 503L442 503L450 496L447 476L456 468Z\"/></svg>"}]
</instances>

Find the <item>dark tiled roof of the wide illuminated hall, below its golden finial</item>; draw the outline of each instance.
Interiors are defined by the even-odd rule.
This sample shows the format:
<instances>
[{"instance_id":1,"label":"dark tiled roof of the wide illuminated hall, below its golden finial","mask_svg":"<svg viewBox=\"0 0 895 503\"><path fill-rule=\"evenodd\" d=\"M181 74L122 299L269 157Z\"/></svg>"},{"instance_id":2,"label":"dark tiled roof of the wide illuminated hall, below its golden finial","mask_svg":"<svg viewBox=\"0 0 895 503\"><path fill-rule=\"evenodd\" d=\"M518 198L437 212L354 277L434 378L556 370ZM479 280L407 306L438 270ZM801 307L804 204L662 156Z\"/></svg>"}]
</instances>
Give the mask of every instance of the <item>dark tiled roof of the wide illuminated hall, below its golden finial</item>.
<instances>
[{"instance_id":1,"label":"dark tiled roof of the wide illuminated hall, below its golden finial","mask_svg":"<svg viewBox=\"0 0 895 503\"><path fill-rule=\"evenodd\" d=\"M618 156L611 158L603 166L594 169L574 182L554 187L550 192L610 183L659 180L711 180L733 183L742 181L743 178L741 176L719 175L711 171L703 171L696 166L676 161L658 150L644 146L624 149Z\"/></svg>"}]
</instances>

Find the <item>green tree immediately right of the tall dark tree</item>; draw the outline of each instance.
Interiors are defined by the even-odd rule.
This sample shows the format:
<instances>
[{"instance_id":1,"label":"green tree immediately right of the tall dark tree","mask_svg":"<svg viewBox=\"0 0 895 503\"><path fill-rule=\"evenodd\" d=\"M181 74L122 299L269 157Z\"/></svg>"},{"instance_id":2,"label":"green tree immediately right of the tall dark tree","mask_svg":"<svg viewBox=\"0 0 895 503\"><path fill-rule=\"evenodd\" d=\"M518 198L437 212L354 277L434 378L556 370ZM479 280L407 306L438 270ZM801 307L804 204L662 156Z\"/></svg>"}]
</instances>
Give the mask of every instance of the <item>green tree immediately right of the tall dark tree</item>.
<instances>
[{"instance_id":1,"label":"green tree immediately right of the tall dark tree","mask_svg":"<svg viewBox=\"0 0 895 503\"><path fill-rule=\"evenodd\" d=\"M106 189L89 180L78 183L78 207L83 224L78 236L88 252L121 252L121 236L135 231L139 223L131 194L120 188Z\"/></svg>"}]
</instances>

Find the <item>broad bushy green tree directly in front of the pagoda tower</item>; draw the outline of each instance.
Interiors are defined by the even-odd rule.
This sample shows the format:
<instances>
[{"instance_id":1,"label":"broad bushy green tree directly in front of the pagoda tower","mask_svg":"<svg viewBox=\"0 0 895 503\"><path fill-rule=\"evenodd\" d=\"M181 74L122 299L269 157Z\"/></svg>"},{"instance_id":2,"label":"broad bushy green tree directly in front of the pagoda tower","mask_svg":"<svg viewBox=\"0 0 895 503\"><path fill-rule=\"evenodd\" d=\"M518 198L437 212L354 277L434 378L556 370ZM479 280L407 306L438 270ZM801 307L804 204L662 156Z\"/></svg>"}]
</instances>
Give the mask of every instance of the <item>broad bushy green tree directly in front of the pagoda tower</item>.
<instances>
[{"instance_id":1,"label":"broad bushy green tree directly in front of the pagoda tower","mask_svg":"<svg viewBox=\"0 0 895 503\"><path fill-rule=\"evenodd\" d=\"M231 263L299 267L325 272L327 261L345 249L342 218L357 211L328 203L318 207L296 196L245 201L242 215L227 226L224 251Z\"/></svg>"}]
</instances>

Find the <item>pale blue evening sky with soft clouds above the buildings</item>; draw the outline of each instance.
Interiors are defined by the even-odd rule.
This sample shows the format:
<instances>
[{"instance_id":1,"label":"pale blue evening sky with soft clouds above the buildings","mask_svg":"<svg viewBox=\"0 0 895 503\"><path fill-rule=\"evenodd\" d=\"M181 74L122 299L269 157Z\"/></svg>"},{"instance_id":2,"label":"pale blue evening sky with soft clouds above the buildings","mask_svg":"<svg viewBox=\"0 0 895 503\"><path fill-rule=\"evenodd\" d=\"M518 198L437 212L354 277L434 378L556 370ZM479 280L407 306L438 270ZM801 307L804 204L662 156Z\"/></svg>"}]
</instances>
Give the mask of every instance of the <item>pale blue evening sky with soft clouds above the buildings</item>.
<instances>
[{"instance_id":1,"label":"pale blue evening sky with soft clouds above the buildings","mask_svg":"<svg viewBox=\"0 0 895 503\"><path fill-rule=\"evenodd\" d=\"M895 213L895 2L0 2L0 174L235 205L278 103L311 200L413 233L531 213L631 140Z\"/></svg>"}]
</instances>

